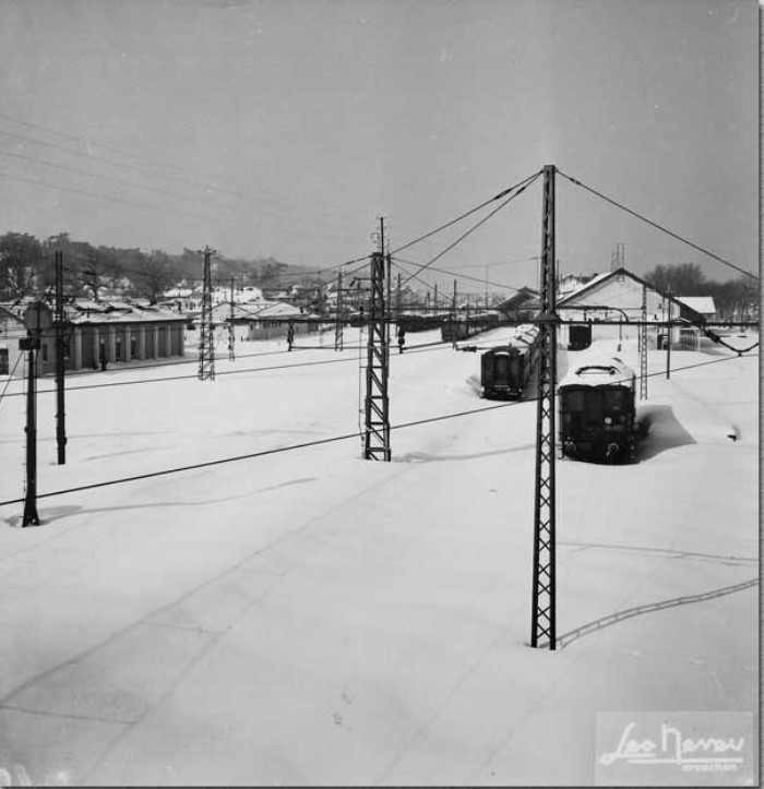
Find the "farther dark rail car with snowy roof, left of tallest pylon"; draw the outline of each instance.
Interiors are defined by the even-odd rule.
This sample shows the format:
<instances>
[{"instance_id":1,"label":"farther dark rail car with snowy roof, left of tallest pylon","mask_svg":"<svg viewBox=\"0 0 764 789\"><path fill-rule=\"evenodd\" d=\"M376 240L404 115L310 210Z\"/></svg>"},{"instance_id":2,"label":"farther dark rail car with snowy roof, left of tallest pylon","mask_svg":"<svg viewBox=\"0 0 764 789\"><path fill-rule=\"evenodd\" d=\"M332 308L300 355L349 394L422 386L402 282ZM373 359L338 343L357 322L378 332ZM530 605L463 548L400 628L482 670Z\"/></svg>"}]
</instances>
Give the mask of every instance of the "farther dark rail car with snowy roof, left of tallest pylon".
<instances>
[{"instance_id":1,"label":"farther dark rail car with snowy roof, left of tallest pylon","mask_svg":"<svg viewBox=\"0 0 764 789\"><path fill-rule=\"evenodd\" d=\"M518 326L508 345L480 357L480 386L487 399L522 399L538 354L538 327Z\"/></svg>"}]
</instances>

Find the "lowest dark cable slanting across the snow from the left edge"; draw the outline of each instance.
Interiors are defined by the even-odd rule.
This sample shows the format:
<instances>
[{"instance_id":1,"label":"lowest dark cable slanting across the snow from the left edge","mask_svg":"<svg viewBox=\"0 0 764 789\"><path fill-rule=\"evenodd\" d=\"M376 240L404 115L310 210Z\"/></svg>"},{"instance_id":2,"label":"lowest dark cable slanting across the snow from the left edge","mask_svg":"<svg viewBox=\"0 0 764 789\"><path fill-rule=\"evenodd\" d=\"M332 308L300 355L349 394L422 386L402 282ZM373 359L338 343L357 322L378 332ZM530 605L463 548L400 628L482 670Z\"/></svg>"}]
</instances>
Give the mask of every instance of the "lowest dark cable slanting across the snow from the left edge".
<instances>
[{"instance_id":1,"label":"lowest dark cable slanting across the snow from the left edge","mask_svg":"<svg viewBox=\"0 0 764 789\"><path fill-rule=\"evenodd\" d=\"M675 373L683 372L687 370L693 370L693 369L701 368L701 367L707 367L709 364L718 364L724 361L730 361L730 360L736 360L736 359L738 359L738 357L732 357L732 356L724 357L721 359L712 359L709 361L702 361L702 362L696 362L694 364L687 364L684 367L678 367L678 368L675 368L672 370L672 372L675 372ZM355 361L355 357L353 358L353 360ZM653 378L653 376L662 375L662 374L664 374L662 371L653 372L653 373L649 373L648 376ZM473 416L475 414L493 411L493 410L497 410L500 408L511 408L511 407L517 407L517 406L528 404L528 403L535 403L536 399L537 398L533 397L533 398L528 398L525 401L512 401L509 403L498 403L496 405L482 406L480 408L470 408L470 409L463 410L463 411L456 411L454 414L442 414L437 417L428 417L426 419L415 419L409 422L401 422L399 425L391 425L390 429L391 430L404 430L407 428L419 427L421 425L431 425L433 422L441 422L441 421L445 421L449 419L458 419L462 417ZM301 442L299 444L289 444L288 446L277 446L277 447L273 447L270 450L262 450L260 452L250 452L250 453L247 453L243 455L223 457L223 458L217 458L215 461L203 461L201 463L193 463L193 464L189 464L187 466L177 466L175 468L166 468L166 469L162 469L158 471L147 471L145 474L138 474L138 475L133 475L130 477L120 477L118 479L109 479L109 480L104 480L102 482L91 482L88 485L81 485L81 486L76 486L74 488L67 488L63 490L51 491L49 493L37 493L37 499L48 499L51 497L64 495L68 493L77 493L77 492L81 492L84 490L95 490L97 488L106 488L106 487L116 486L116 485L126 485L129 482L136 482L136 481L144 480L144 479L153 479L156 477L165 477L165 476L168 476L171 474L181 474L184 471L193 471L193 470L196 470L200 468L210 468L212 466L219 466L219 465L224 465L224 464L228 464L228 463L239 463L241 461L250 461L250 459L254 459L258 457L265 457L268 455L280 454L284 452L294 452L297 450L305 450L305 449L309 449L312 446L321 446L321 445L325 445L325 444L336 443L339 441L348 441L349 439L357 439L360 435L362 435L362 433L356 431L356 432L351 432L351 433L344 433L343 435L333 435L333 437L330 437L326 439L317 439L314 441L306 441L306 442ZM0 506L8 506L10 504L19 504L20 502L23 502L23 501L24 501L23 498L9 499L7 501L0 501Z\"/></svg>"}]
</instances>

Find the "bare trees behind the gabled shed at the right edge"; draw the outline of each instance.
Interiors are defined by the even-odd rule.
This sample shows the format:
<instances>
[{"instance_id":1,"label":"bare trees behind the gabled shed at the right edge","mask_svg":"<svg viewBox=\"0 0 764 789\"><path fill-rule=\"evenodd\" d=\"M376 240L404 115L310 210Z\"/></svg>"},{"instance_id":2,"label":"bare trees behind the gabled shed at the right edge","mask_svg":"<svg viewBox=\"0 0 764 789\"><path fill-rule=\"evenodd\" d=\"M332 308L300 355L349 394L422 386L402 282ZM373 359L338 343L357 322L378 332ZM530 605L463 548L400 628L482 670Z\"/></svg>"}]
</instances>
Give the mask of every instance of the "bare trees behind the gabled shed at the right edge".
<instances>
[{"instance_id":1,"label":"bare trees behind the gabled shed at the right edge","mask_svg":"<svg viewBox=\"0 0 764 789\"><path fill-rule=\"evenodd\" d=\"M753 316L759 303L759 284L740 275L726 282L708 279L697 263L657 265L644 276L645 282L661 292L673 296L711 296L719 320L741 315Z\"/></svg>"}]
</instances>

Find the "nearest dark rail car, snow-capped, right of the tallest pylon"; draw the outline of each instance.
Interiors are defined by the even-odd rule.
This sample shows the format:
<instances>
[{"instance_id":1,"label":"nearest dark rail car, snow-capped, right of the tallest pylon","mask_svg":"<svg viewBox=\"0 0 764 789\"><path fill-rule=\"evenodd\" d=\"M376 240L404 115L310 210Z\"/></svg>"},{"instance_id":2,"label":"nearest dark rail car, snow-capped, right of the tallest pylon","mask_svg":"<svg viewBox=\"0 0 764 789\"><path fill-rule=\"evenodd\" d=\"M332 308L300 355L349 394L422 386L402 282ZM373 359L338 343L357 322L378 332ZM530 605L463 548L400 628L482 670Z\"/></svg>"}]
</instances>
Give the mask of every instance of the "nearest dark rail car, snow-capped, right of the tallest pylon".
<instances>
[{"instance_id":1,"label":"nearest dark rail car, snow-capped, right of the tallest pylon","mask_svg":"<svg viewBox=\"0 0 764 789\"><path fill-rule=\"evenodd\" d=\"M618 357L593 360L560 382L560 446L575 459L622 463L634 456L636 376Z\"/></svg>"}]
</instances>

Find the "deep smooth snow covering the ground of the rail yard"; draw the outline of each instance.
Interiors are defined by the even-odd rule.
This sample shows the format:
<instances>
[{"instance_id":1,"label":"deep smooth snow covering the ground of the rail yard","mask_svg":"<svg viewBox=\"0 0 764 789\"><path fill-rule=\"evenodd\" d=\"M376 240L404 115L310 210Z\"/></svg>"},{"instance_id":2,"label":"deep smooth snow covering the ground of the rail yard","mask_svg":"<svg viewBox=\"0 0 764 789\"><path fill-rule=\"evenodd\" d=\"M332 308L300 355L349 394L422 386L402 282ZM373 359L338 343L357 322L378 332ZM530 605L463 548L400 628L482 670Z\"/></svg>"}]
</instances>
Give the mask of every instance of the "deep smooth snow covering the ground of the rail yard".
<instances>
[{"instance_id":1,"label":"deep smooth snow covering the ground of the rail yard","mask_svg":"<svg viewBox=\"0 0 764 789\"><path fill-rule=\"evenodd\" d=\"M492 405L478 354L414 347L435 338L393 352L393 425ZM241 344L214 382L193 363L71 376L64 466L55 395L38 397L38 492L355 433L363 351L345 342ZM638 370L633 339L620 356ZM533 402L393 430L389 464L351 438L40 498L37 528L0 506L0 769L590 785L599 712L755 712L755 584L596 624L759 577L757 351L676 351L670 380L665 359L649 354L637 463L558 463L557 651L527 643ZM17 392L0 403L3 502L23 497Z\"/></svg>"}]
</instances>

